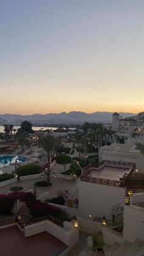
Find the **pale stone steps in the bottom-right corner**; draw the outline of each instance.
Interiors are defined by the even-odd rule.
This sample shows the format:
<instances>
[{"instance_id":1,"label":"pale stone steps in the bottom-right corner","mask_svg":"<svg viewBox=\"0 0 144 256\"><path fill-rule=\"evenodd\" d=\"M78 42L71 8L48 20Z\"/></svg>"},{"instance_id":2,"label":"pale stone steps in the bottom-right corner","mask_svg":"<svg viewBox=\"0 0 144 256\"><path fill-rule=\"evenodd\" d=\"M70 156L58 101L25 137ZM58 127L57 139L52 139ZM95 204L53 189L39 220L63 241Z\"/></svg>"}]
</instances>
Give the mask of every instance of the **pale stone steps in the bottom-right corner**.
<instances>
[{"instance_id":1,"label":"pale stone steps in the bottom-right corner","mask_svg":"<svg viewBox=\"0 0 144 256\"><path fill-rule=\"evenodd\" d=\"M133 244L126 240L122 244L113 243L105 252L107 256L142 256L143 254L144 243L138 239Z\"/></svg>"}]
</instances>

